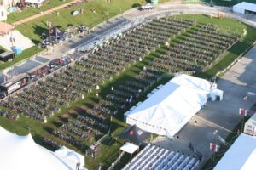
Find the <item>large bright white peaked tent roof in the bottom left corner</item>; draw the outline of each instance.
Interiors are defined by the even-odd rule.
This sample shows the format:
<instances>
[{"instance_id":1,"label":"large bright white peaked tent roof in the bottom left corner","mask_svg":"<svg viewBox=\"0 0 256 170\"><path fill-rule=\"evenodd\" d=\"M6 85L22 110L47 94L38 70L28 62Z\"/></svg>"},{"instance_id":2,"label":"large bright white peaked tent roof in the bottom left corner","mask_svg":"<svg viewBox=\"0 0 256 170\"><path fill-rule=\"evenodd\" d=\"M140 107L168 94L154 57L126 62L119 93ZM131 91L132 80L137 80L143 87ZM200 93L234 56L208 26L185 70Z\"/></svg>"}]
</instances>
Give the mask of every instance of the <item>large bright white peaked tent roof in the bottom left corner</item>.
<instances>
[{"instance_id":1,"label":"large bright white peaked tent roof in the bottom left corner","mask_svg":"<svg viewBox=\"0 0 256 170\"><path fill-rule=\"evenodd\" d=\"M0 169L73 170L69 164L36 144L32 135L18 136L0 127Z\"/></svg>"}]
</instances>

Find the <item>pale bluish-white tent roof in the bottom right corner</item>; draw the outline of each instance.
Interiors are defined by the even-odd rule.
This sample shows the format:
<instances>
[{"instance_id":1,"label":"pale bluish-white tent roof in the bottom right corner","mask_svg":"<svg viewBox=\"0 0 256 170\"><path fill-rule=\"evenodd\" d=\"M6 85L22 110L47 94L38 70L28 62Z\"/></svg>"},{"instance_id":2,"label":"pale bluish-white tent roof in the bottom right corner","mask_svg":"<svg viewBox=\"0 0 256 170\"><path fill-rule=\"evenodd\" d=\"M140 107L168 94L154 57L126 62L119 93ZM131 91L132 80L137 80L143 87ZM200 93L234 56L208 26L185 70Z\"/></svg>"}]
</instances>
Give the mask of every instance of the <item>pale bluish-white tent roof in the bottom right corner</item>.
<instances>
[{"instance_id":1,"label":"pale bluish-white tent roof in the bottom right corner","mask_svg":"<svg viewBox=\"0 0 256 170\"><path fill-rule=\"evenodd\" d=\"M256 138L242 133L213 170L252 170L255 160Z\"/></svg>"}]
</instances>

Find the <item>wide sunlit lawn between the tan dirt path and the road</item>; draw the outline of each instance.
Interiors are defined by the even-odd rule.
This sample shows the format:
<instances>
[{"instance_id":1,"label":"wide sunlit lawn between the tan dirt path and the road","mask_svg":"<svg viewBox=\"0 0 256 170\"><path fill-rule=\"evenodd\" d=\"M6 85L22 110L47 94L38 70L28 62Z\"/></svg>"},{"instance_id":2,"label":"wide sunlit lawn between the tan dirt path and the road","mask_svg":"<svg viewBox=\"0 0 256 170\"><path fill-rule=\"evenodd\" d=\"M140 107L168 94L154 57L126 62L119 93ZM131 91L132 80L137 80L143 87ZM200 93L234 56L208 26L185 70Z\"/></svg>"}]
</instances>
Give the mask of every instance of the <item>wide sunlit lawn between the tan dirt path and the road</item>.
<instances>
[{"instance_id":1,"label":"wide sunlit lawn between the tan dirt path and the road","mask_svg":"<svg viewBox=\"0 0 256 170\"><path fill-rule=\"evenodd\" d=\"M164 1L166 0L161 0L160 2ZM47 29L46 21L51 21L55 26L60 26L62 29L67 28L67 26L78 26L79 24L93 27L102 21L107 20L107 13L109 14L109 19L130 8L146 3L145 0L112 0L111 2L112 3L108 3L106 0L93 0L88 3L81 3L70 9L62 8L59 10L59 16L55 13L47 14L38 19L21 24L15 29L37 43L41 41L40 36L42 32ZM84 8L84 14L73 16L71 14L72 11L78 10L79 8ZM96 13L92 12L93 9L96 10Z\"/></svg>"}]
</instances>

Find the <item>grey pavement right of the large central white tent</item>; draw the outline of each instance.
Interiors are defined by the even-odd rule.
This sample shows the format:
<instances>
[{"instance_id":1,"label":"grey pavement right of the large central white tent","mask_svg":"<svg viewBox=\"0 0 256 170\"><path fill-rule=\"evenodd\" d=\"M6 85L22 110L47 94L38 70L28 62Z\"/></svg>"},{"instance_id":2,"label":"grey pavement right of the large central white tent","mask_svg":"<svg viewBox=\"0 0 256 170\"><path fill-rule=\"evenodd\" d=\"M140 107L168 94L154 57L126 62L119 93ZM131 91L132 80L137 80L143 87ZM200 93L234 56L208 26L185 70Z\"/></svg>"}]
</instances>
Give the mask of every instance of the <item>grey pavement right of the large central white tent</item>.
<instances>
[{"instance_id":1,"label":"grey pavement right of the large central white tent","mask_svg":"<svg viewBox=\"0 0 256 170\"><path fill-rule=\"evenodd\" d=\"M248 95L247 100L243 100L247 92L256 92L255 65L256 47L218 80L218 88L224 91L223 101L208 102L204 110L195 115L172 141L160 138L154 142L190 154L192 151L189 149L189 143L192 143L194 148L205 156L204 164L212 156L209 144L215 141L221 144L215 139L213 132L218 130L221 137L226 137L241 121L239 108L248 109L255 102L256 96Z\"/></svg>"}]
</instances>

